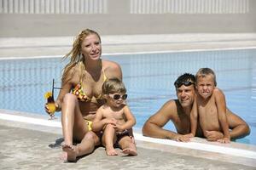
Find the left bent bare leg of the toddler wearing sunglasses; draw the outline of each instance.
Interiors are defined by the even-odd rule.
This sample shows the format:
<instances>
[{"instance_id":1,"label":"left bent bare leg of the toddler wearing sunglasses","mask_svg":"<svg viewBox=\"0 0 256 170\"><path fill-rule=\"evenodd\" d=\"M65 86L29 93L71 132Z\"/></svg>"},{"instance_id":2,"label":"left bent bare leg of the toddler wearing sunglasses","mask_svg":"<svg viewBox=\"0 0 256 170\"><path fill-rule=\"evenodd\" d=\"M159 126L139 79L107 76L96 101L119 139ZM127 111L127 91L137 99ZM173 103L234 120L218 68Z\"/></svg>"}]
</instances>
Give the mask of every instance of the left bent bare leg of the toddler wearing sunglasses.
<instances>
[{"instance_id":1,"label":"left bent bare leg of the toddler wearing sunglasses","mask_svg":"<svg viewBox=\"0 0 256 170\"><path fill-rule=\"evenodd\" d=\"M107 124L102 136L102 144L105 146L106 154L108 156L118 155L118 152L113 148L113 143L115 143L115 141L116 141L116 135L115 135L115 130L113 128L113 125Z\"/></svg>"}]
</instances>

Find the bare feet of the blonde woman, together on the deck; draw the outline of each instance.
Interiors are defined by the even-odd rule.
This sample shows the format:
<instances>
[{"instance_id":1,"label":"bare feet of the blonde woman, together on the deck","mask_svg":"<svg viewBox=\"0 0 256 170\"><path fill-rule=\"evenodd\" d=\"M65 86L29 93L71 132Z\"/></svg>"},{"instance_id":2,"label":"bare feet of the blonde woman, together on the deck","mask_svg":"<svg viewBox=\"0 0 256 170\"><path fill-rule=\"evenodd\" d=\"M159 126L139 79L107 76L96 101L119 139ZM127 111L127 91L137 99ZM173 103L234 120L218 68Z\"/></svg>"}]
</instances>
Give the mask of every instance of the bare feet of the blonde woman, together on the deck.
<instances>
[{"instance_id":1,"label":"bare feet of the blonde woman, together on the deck","mask_svg":"<svg viewBox=\"0 0 256 170\"><path fill-rule=\"evenodd\" d=\"M78 147L73 144L61 144L62 150L66 152L63 159L66 161L77 161L77 156L79 155Z\"/></svg>"}]
</instances>

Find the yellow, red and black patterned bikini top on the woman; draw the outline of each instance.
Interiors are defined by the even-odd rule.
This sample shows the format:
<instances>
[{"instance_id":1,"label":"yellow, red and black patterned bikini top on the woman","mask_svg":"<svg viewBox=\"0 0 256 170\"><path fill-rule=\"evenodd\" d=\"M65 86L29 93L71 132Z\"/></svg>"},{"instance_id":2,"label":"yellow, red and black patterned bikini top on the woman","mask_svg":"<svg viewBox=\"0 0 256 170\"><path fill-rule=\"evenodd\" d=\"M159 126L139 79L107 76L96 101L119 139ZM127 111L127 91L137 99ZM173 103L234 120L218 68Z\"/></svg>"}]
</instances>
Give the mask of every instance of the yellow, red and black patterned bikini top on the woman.
<instances>
[{"instance_id":1,"label":"yellow, red and black patterned bikini top on the woman","mask_svg":"<svg viewBox=\"0 0 256 170\"><path fill-rule=\"evenodd\" d=\"M105 75L105 72L103 70L103 77L104 77L104 80L103 82L106 82L108 77L106 77ZM79 99L79 101L85 101L85 102L88 102L88 101L91 101L91 99L102 99L102 94L100 94L98 97L92 97L92 98L89 98L85 93L84 93L84 90L83 90L83 86L82 86L82 81L79 82L78 85L76 85L75 88L73 88L71 90L71 93L76 95L77 98Z\"/></svg>"}]
</instances>

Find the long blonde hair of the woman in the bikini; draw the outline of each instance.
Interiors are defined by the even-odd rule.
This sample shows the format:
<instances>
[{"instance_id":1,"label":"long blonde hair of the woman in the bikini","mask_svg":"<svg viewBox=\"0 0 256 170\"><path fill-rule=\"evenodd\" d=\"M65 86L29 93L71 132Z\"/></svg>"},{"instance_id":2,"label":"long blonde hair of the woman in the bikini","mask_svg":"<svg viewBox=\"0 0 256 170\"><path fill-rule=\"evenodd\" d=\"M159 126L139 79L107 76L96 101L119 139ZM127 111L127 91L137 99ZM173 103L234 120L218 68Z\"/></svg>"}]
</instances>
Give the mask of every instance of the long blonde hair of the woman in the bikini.
<instances>
[{"instance_id":1,"label":"long blonde hair of the woman in the bikini","mask_svg":"<svg viewBox=\"0 0 256 170\"><path fill-rule=\"evenodd\" d=\"M80 81L82 80L85 65L84 65L83 54L80 53L81 45L82 45L82 42L84 41L84 38L88 37L92 34L95 34L97 37L99 37L100 42L102 42L99 34L96 31L93 31L90 29L85 29L85 30L81 31L79 33L79 35L77 37L75 37L74 42L73 42L73 48L71 49L71 51L68 54L66 54L64 56L64 59L67 59L68 57L70 57L70 61L64 68L63 75L62 75L62 82L67 82L68 72L71 71L71 69L75 65L79 65L79 78L80 78ZM72 77L73 77L73 74L74 74L74 72L72 73Z\"/></svg>"}]
</instances>

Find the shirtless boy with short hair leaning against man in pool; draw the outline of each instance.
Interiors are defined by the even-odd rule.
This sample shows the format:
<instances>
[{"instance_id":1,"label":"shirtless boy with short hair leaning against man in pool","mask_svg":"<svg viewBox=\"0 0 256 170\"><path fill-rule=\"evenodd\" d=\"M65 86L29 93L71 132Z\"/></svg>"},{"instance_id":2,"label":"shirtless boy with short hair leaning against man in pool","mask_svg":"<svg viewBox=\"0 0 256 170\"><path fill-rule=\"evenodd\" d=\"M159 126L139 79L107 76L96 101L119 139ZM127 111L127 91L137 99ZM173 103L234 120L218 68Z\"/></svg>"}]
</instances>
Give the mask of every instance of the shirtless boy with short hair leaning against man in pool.
<instances>
[{"instance_id":1,"label":"shirtless boy with short hair leaning against man in pool","mask_svg":"<svg viewBox=\"0 0 256 170\"><path fill-rule=\"evenodd\" d=\"M218 142L230 143L225 97L224 93L216 88L215 73L209 68L201 68L197 71L195 79L197 94L190 115L192 136L195 136L199 116L204 136L207 136L207 131L221 131L224 138L218 139Z\"/></svg>"}]
</instances>

